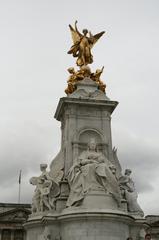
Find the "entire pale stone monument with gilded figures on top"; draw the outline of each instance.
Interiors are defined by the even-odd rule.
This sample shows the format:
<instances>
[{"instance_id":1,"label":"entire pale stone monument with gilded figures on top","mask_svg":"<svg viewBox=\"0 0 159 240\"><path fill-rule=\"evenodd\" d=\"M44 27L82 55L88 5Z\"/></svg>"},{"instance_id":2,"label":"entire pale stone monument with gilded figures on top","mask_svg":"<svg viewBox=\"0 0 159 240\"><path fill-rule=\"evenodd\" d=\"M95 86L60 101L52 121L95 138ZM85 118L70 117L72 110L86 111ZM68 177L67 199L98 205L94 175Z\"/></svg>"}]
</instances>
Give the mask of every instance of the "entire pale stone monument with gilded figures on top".
<instances>
[{"instance_id":1,"label":"entire pale stone monument with gilded figures on top","mask_svg":"<svg viewBox=\"0 0 159 240\"><path fill-rule=\"evenodd\" d=\"M118 102L110 100L101 80L103 67L91 72L91 49L104 34L80 33L69 25L78 70L68 69L67 96L55 118L61 122L61 150L50 164L41 164L32 214L25 228L27 240L142 239L143 211L131 170L122 168L112 147L111 114Z\"/></svg>"}]
</instances>

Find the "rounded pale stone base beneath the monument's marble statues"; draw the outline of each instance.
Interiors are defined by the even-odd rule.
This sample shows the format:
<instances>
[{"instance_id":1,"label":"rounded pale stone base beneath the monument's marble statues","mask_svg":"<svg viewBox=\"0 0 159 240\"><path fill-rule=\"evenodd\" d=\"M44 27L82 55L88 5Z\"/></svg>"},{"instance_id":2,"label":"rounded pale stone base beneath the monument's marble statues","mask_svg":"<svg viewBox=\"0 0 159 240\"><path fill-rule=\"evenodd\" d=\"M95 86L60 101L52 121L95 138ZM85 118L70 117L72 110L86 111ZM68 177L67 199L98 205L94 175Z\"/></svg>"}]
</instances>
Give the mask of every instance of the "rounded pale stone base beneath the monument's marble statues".
<instances>
[{"instance_id":1,"label":"rounded pale stone base beneath the monument's marble statues","mask_svg":"<svg viewBox=\"0 0 159 240\"><path fill-rule=\"evenodd\" d=\"M32 217L25 227L27 240L125 240L140 238L144 219L120 211L67 208L61 214Z\"/></svg>"}]
</instances>

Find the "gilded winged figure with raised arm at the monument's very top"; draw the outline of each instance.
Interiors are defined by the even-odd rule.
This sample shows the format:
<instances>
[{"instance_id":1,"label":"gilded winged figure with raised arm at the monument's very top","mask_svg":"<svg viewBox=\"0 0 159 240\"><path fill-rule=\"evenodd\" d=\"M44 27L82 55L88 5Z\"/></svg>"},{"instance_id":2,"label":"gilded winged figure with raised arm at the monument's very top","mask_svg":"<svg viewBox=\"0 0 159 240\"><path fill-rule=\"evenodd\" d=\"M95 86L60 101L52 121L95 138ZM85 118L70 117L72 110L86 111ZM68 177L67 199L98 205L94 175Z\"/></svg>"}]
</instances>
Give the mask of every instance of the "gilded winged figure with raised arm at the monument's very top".
<instances>
[{"instance_id":1,"label":"gilded winged figure with raised arm at the monument's very top","mask_svg":"<svg viewBox=\"0 0 159 240\"><path fill-rule=\"evenodd\" d=\"M103 31L96 35L92 35L91 32L89 32L88 37L87 29L83 29L83 34L78 31L77 21L75 22L75 29L71 25L69 25L69 28L72 35L73 45L68 51L68 54L72 54L73 57L77 57L76 63L80 67L91 64L93 62L91 48L105 32Z\"/></svg>"}]
</instances>

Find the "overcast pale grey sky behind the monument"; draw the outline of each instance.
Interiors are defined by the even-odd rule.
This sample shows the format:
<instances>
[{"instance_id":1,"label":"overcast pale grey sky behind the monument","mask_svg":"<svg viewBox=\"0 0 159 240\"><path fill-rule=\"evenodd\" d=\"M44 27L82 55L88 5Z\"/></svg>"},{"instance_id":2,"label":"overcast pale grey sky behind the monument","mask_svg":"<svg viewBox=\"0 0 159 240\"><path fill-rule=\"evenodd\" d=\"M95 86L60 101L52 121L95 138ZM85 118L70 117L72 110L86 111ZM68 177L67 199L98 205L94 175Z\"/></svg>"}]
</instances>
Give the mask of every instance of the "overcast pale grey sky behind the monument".
<instances>
[{"instance_id":1,"label":"overcast pale grey sky behind the monument","mask_svg":"<svg viewBox=\"0 0 159 240\"><path fill-rule=\"evenodd\" d=\"M113 145L123 169L132 168L146 214L159 214L159 1L0 0L0 202L22 202L29 178L60 148L53 116L65 96L68 24L106 34L93 49L92 70L105 66L107 95L119 105L112 116Z\"/></svg>"}]
</instances>

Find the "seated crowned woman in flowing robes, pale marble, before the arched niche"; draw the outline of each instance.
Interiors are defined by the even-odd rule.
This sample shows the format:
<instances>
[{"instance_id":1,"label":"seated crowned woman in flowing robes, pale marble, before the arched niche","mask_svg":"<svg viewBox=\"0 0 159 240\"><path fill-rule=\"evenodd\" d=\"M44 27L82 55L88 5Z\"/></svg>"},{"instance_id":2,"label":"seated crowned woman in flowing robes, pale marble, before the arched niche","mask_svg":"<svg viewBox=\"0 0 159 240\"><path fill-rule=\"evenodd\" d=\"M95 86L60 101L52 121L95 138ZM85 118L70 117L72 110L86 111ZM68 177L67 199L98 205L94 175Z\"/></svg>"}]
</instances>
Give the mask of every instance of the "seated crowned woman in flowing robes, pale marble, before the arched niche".
<instances>
[{"instance_id":1,"label":"seated crowned woman in flowing robes, pale marble, before the arched niche","mask_svg":"<svg viewBox=\"0 0 159 240\"><path fill-rule=\"evenodd\" d=\"M70 195L67 206L78 206L90 191L104 191L120 199L120 190L109 161L97 151L95 139L91 139L87 151L82 152L77 163L69 170Z\"/></svg>"}]
</instances>

